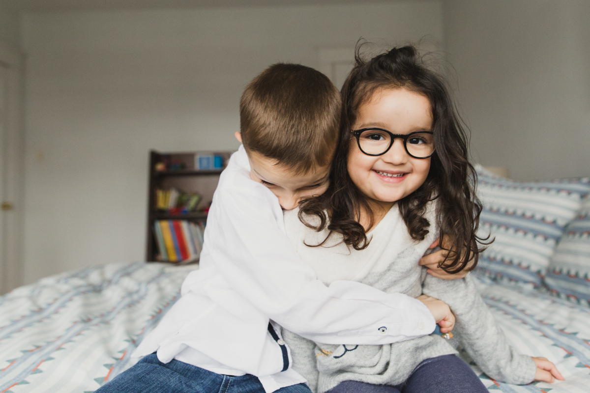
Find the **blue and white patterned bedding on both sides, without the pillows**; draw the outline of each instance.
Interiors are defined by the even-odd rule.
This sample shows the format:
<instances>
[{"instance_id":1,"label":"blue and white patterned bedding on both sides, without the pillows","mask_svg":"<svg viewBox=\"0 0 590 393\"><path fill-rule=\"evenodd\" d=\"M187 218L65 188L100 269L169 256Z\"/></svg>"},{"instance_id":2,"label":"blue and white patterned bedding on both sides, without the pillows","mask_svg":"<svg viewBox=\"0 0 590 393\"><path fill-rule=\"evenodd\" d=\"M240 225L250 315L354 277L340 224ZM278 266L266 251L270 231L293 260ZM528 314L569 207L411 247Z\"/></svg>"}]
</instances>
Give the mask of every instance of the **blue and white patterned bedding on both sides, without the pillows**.
<instances>
[{"instance_id":1,"label":"blue and white patterned bedding on both sides, without the pillows","mask_svg":"<svg viewBox=\"0 0 590 393\"><path fill-rule=\"evenodd\" d=\"M130 354L179 296L195 266L131 263L66 273L0 297L0 393L93 392L135 364ZM490 392L590 391L590 309L523 286L480 288L512 345L566 378Z\"/></svg>"}]
</instances>

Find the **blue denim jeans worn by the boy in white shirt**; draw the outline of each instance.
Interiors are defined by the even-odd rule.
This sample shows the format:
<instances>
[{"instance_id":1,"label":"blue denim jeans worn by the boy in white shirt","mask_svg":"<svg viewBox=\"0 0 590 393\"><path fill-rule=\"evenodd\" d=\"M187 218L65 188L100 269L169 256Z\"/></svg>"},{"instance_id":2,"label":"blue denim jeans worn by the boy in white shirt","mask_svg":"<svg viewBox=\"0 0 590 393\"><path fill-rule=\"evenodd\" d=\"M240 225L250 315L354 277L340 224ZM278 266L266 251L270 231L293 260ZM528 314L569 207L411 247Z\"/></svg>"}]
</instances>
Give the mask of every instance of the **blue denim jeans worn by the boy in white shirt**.
<instances>
[{"instance_id":1,"label":"blue denim jeans worn by the boy in white shirt","mask_svg":"<svg viewBox=\"0 0 590 393\"><path fill-rule=\"evenodd\" d=\"M172 360L162 363L156 354L142 358L135 366L104 384L95 393L264 393L258 378L215 372ZM311 393L305 384L281 388L277 393Z\"/></svg>"}]
</instances>

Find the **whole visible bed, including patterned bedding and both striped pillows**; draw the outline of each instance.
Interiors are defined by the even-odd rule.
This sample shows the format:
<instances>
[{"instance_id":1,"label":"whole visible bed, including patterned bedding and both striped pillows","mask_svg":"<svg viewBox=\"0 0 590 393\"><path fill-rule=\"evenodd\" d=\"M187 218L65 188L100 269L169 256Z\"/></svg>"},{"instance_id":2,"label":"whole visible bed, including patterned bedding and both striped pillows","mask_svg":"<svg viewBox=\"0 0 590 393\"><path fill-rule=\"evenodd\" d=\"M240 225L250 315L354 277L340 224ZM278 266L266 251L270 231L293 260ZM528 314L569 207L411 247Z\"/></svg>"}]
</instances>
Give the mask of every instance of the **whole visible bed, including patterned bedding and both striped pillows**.
<instances>
[{"instance_id":1,"label":"whole visible bed, including patterned bedding and both striped pillows","mask_svg":"<svg viewBox=\"0 0 590 393\"><path fill-rule=\"evenodd\" d=\"M471 274L511 344L553 361L566 381L503 384L461 355L490 392L590 392L590 179L519 183L478 172L481 230L497 241ZM0 393L95 391L135 364L137 343L196 268L95 266L1 296Z\"/></svg>"}]
</instances>

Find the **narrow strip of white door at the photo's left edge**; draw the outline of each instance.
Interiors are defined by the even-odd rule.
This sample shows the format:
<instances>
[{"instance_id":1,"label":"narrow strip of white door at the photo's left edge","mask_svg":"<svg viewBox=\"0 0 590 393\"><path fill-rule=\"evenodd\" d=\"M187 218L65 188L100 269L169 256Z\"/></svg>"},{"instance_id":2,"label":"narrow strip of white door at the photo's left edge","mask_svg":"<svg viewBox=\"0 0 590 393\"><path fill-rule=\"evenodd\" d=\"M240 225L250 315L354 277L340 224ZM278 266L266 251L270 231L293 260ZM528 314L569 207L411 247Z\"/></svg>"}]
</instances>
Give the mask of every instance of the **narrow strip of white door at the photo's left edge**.
<instances>
[{"instance_id":1,"label":"narrow strip of white door at the photo's left edge","mask_svg":"<svg viewBox=\"0 0 590 393\"><path fill-rule=\"evenodd\" d=\"M0 203L5 201L5 129L8 103L8 70L0 63ZM2 206L4 209L5 206ZM0 210L0 294L6 289L5 214Z\"/></svg>"}]
</instances>

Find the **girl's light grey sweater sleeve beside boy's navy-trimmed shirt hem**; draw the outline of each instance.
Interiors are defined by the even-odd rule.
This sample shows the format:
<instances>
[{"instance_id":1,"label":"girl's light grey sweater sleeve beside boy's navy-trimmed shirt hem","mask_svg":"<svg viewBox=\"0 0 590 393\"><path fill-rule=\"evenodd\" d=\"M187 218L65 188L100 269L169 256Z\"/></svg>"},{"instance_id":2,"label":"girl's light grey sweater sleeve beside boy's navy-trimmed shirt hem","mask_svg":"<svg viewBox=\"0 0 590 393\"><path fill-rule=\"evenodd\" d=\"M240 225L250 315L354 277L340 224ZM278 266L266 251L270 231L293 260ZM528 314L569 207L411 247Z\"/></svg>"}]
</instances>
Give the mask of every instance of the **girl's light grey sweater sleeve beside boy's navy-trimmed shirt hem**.
<instances>
[{"instance_id":1,"label":"girl's light grey sweater sleeve beside boy's navy-trimmed shirt hem","mask_svg":"<svg viewBox=\"0 0 590 393\"><path fill-rule=\"evenodd\" d=\"M315 393L319 378L314 351L316 343L286 329L283 329L282 335L291 352L291 368L307 379L307 385Z\"/></svg>"}]
</instances>

